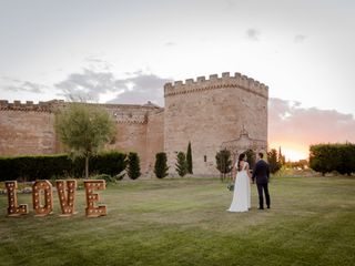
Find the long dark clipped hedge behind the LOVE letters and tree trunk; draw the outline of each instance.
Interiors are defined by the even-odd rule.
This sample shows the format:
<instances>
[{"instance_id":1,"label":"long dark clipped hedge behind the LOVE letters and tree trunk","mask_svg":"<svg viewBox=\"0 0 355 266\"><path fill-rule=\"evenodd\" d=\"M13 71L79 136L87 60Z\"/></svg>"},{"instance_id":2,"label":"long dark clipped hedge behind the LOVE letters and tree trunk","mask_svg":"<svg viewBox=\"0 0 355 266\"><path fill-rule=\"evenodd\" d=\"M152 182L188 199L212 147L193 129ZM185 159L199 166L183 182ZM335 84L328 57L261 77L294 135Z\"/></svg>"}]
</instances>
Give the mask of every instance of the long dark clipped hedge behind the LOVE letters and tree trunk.
<instances>
[{"instance_id":1,"label":"long dark clipped hedge behind the LOVE letters and tree trunk","mask_svg":"<svg viewBox=\"0 0 355 266\"><path fill-rule=\"evenodd\" d=\"M126 155L119 152L101 153L90 158L91 174L120 174L126 166ZM67 154L0 157L0 181L34 181L83 177L84 160L71 160Z\"/></svg>"}]
</instances>

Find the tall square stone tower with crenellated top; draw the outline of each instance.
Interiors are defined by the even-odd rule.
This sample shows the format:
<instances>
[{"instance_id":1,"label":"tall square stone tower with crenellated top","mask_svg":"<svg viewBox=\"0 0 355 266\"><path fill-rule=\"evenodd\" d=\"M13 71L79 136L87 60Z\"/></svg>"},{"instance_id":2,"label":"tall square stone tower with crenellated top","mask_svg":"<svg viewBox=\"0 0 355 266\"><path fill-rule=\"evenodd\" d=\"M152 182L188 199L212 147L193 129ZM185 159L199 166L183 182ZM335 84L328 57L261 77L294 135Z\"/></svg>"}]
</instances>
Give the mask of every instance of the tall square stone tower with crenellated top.
<instances>
[{"instance_id":1,"label":"tall square stone tower with crenellated top","mask_svg":"<svg viewBox=\"0 0 355 266\"><path fill-rule=\"evenodd\" d=\"M164 151L170 172L175 173L178 152L192 144L194 175L217 175L216 152L241 137L250 147L266 150L268 88L240 73L223 73L206 80L189 79L164 85Z\"/></svg>"}]
</instances>

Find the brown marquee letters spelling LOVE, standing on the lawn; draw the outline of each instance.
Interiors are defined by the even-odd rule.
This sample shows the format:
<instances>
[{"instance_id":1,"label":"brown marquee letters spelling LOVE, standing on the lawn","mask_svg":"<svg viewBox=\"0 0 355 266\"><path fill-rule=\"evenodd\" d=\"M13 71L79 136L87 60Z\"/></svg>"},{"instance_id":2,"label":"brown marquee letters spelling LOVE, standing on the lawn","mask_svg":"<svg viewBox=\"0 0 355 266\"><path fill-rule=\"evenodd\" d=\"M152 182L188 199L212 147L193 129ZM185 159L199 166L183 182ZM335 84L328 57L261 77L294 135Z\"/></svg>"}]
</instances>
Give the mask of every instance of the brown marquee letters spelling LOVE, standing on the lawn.
<instances>
[{"instance_id":1,"label":"brown marquee letters spelling LOVE, standing on the lawn","mask_svg":"<svg viewBox=\"0 0 355 266\"><path fill-rule=\"evenodd\" d=\"M8 192L8 216L20 216L29 213L27 204L18 204L17 197L17 181L7 181ZM75 214L75 180L58 180L55 187L61 207L60 216L71 216ZM53 190L52 184L47 181L36 181L32 185L32 204L36 216L47 216L53 212ZM99 194L94 191L105 190L104 180L88 180L84 181L87 207L85 215L88 217L99 217L108 214L106 206L95 206L95 202L100 201Z\"/></svg>"}]
</instances>

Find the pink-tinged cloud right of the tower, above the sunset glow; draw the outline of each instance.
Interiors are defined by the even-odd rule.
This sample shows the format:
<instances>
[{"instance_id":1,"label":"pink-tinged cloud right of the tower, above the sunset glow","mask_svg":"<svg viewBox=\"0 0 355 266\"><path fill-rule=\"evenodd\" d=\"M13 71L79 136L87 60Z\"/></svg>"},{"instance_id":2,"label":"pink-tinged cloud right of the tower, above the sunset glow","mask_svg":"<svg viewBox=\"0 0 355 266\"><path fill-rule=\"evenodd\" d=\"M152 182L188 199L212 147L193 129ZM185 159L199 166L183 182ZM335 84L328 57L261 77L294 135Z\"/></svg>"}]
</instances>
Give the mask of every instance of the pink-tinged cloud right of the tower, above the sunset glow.
<instances>
[{"instance_id":1,"label":"pink-tinged cloud right of the tower, above the sunset glow","mask_svg":"<svg viewBox=\"0 0 355 266\"><path fill-rule=\"evenodd\" d=\"M355 142L352 114L335 110L302 108L300 102L272 98L268 102L270 143L310 144Z\"/></svg>"}]
</instances>

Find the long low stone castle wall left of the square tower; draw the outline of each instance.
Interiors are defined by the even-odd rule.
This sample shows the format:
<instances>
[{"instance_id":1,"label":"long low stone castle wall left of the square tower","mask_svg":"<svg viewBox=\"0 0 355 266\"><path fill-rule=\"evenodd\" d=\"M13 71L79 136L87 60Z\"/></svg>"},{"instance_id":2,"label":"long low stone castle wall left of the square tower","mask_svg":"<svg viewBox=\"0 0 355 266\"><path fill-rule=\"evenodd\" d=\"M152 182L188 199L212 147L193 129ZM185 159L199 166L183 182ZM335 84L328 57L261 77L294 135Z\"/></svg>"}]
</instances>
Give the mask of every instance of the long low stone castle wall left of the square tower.
<instances>
[{"instance_id":1,"label":"long low stone castle wall left of the square tower","mask_svg":"<svg viewBox=\"0 0 355 266\"><path fill-rule=\"evenodd\" d=\"M39 104L0 101L0 156L63 152L55 136L53 123L55 110L65 108L67 104L63 101ZM146 172L153 161L152 153L163 152L163 120L159 114L163 109L152 104L100 106L112 115L118 127L115 142L109 144L106 150L136 152L141 160L142 173Z\"/></svg>"}]
</instances>

